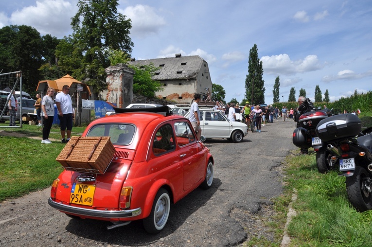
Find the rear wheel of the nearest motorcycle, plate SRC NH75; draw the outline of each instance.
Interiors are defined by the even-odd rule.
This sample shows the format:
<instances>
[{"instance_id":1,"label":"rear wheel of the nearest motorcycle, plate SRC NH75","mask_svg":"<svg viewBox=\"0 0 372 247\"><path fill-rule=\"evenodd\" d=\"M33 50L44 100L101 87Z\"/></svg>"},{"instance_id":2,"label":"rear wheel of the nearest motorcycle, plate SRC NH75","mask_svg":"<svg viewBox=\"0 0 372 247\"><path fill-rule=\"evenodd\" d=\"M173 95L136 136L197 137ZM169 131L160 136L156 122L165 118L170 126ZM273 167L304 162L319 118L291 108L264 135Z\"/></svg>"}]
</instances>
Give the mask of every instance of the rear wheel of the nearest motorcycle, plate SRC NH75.
<instances>
[{"instance_id":1,"label":"rear wheel of the nearest motorcycle, plate SRC NH75","mask_svg":"<svg viewBox=\"0 0 372 247\"><path fill-rule=\"evenodd\" d=\"M353 176L346 177L346 191L354 208L360 212L372 209L372 193L368 191L371 175L361 166L356 166Z\"/></svg>"}]
</instances>

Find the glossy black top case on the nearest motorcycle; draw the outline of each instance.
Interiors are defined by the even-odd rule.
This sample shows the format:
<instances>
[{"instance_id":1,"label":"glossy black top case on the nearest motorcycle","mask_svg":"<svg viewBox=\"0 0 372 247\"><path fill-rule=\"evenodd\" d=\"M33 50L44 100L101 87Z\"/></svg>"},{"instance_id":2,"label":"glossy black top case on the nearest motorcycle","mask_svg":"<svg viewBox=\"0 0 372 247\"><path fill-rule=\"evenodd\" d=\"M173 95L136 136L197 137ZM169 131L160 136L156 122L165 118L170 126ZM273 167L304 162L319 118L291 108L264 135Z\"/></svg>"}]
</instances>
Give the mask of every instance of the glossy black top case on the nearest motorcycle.
<instances>
[{"instance_id":1,"label":"glossy black top case on the nearest motorcycle","mask_svg":"<svg viewBox=\"0 0 372 247\"><path fill-rule=\"evenodd\" d=\"M355 137L360 133L361 121L358 116L346 113L323 119L315 132L321 141L332 141Z\"/></svg>"}]
</instances>

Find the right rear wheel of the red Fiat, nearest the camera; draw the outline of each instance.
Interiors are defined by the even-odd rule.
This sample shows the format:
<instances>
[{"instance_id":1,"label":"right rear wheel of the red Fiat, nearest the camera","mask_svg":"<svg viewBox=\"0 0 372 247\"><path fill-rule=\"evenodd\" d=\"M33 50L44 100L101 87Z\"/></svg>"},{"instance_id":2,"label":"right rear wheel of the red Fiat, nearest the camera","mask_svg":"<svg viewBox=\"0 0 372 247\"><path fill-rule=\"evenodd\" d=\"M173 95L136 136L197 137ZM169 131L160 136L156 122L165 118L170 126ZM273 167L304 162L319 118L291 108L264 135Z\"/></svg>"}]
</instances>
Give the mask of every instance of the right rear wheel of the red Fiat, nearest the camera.
<instances>
[{"instance_id":1,"label":"right rear wheel of the red Fiat, nearest the camera","mask_svg":"<svg viewBox=\"0 0 372 247\"><path fill-rule=\"evenodd\" d=\"M143 227L148 233L157 234L168 221L171 199L168 191L161 188L155 196L150 215L143 219Z\"/></svg>"}]
</instances>

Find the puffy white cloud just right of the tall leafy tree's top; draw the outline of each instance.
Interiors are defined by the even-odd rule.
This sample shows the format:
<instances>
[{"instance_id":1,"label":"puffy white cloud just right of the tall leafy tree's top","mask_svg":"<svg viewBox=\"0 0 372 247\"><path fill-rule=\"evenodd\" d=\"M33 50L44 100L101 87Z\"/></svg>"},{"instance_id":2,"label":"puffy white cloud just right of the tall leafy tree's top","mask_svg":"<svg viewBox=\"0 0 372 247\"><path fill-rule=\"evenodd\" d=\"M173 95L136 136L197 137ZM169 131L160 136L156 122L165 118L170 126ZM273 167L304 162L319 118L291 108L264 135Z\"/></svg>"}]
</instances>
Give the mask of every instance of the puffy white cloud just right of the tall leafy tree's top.
<instances>
[{"instance_id":1,"label":"puffy white cloud just right of the tall leafy tree's top","mask_svg":"<svg viewBox=\"0 0 372 247\"><path fill-rule=\"evenodd\" d=\"M145 37L157 34L160 28L166 25L164 18L156 13L156 9L147 5L129 6L122 12L132 20L132 29L130 30L132 35Z\"/></svg>"}]
</instances>

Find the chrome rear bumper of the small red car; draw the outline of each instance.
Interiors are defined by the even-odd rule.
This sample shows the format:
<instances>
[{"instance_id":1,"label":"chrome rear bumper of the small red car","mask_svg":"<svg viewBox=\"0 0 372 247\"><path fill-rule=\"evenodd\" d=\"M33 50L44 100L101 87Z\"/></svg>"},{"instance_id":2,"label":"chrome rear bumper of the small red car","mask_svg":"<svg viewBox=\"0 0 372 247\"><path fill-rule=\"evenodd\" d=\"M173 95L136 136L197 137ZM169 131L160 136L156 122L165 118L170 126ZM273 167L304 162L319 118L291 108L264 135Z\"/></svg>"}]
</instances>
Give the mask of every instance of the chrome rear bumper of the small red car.
<instances>
[{"instance_id":1,"label":"chrome rear bumper of the small red car","mask_svg":"<svg viewBox=\"0 0 372 247\"><path fill-rule=\"evenodd\" d=\"M69 205L64 205L62 203L54 202L51 197L49 197L48 199L48 204L51 207L63 212L100 218L128 218L137 216L142 212L141 208L122 211L103 211L95 209L77 208Z\"/></svg>"}]
</instances>

